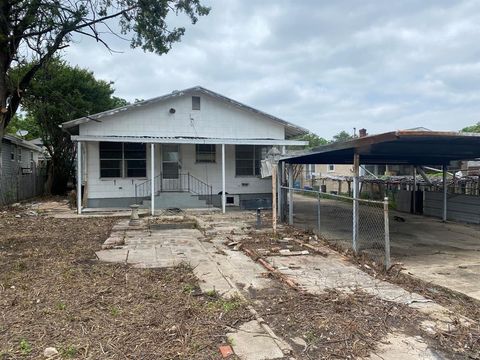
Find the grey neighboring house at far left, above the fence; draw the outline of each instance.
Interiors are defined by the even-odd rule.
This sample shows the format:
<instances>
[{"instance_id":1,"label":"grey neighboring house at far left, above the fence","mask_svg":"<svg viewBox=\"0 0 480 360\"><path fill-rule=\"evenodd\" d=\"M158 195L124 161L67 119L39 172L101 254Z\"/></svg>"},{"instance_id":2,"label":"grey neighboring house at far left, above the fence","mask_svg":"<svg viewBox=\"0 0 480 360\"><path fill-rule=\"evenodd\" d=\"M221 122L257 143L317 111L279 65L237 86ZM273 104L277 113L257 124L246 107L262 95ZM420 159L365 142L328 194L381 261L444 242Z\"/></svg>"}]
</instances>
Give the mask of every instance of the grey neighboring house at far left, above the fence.
<instances>
[{"instance_id":1,"label":"grey neighboring house at far left, above the fence","mask_svg":"<svg viewBox=\"0 0 480 360\"><path fill-rule=\"evenodd\" d=\"M19 137L5 134L0 148L0 176L29 174L38 165L42 149Z\"/></svg>"}]
</instances>

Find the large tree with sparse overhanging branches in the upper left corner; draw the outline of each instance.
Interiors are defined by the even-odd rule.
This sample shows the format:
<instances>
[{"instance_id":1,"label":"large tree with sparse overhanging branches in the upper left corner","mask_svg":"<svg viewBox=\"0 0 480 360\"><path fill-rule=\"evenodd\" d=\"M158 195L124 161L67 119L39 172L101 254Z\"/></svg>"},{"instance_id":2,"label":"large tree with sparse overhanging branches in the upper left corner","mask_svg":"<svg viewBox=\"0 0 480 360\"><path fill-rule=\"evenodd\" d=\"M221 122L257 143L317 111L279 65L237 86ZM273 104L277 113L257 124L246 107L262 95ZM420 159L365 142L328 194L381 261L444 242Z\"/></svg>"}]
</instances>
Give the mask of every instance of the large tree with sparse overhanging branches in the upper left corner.
<instances>
[{"instance_id":1,"label":"large tree with sparse overhanging branches in the upper left corner","mask_svg":"<svg viewBox=\"0 0 480 360\"><path fill-rule=\"evenodd\" d=\"M185 33L167 24L170 14L196 23L209 11L200 0L0 0L0 140L35 74L75 35L109 48L114 34L161 55ZM28 70L12 79L11 70L26 63Z\"/></svg>"}]
</instances>

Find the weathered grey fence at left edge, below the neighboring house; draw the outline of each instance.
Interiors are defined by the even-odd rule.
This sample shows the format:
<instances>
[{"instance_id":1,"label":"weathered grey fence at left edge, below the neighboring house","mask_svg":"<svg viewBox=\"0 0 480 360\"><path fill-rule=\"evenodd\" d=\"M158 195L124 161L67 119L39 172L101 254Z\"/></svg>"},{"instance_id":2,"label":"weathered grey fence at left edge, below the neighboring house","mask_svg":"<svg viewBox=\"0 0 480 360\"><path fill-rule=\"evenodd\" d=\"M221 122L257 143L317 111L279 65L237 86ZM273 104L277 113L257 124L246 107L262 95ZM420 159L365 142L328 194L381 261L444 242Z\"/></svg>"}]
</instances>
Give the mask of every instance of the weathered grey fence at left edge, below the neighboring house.
<instances>
[{"instance_id":1,"label":"weathered grey fence at left edge, below the neighboring house","mask_svg":"<svg viewBox=\"0 0 480 360\"><path fill-rule=\"evenodd\" d=\"M43 195L46 175L44 169L30 173L0 175L0 206Z\"/></svg>"}]
</instances>

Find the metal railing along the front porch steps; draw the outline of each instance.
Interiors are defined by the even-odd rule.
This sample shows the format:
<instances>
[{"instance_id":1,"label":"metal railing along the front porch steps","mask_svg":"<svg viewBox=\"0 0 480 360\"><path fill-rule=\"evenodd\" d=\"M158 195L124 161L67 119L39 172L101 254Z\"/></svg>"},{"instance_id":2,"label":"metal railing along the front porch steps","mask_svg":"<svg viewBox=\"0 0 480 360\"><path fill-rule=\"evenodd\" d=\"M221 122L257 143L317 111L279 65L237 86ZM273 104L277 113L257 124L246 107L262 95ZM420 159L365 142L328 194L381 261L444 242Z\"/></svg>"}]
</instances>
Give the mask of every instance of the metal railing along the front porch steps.
<instances>
[{"instance_id":1,"label":"metal railing along the front porch steps","mask_svg":"<svg viewBox=\"0 0 480 360\"><path fill-rule=\"evenodd\" d=\"M175 174L177 175L177 174ZM202 196L208 205L213 202L213 188L211 185L191 175L190 173L179 173L178 176L172 178L163 173L157 175L153 179L155 195L162 192L189 192L194 195ZM135 202L146 199L152 195L151 179L135 184Z\"/></svg>"}]
</instances>

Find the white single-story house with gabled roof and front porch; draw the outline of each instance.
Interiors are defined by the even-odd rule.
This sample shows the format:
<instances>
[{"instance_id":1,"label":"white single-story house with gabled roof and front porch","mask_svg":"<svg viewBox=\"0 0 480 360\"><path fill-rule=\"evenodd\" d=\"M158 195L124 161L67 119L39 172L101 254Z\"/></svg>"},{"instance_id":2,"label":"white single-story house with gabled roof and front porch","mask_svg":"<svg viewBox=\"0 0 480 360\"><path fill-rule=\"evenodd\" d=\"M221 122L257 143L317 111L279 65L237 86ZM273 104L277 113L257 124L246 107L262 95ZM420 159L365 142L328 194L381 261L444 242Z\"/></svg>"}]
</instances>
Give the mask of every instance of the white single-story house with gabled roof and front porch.
<instances>
[{"instance_id":1,"label":"white single-story house with gabled roof and front porch","mask_svg":"<svg viewBox=\"0 0 480 360\"><path fill-rule=\"evenodd\" d=\"M152 212L271 199L271 179L260 177L261 160L272 146L306 144L291 138L308 132L202 87L85 116L62 128L77 142L84 206L139 203Z\"/></svg>"}]
</instances>

